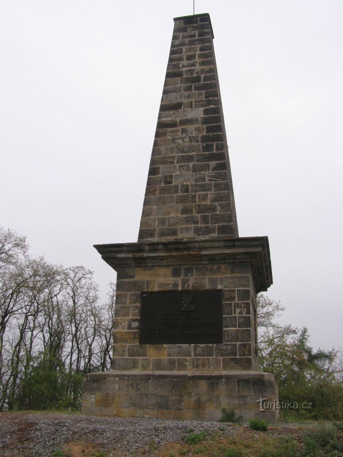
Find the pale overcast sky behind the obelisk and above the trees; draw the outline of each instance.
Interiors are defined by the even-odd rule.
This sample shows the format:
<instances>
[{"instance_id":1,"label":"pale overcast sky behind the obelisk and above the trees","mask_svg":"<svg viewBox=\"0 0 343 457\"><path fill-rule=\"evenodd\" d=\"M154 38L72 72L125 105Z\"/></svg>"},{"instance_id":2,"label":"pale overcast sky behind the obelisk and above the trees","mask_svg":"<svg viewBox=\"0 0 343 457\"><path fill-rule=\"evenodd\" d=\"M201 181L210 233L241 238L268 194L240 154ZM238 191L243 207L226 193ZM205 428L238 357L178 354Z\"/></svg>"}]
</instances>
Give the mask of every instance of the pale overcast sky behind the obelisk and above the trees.
<instances>
[{"instance_id":1,"label":"pale overcast sky behind the obelisk and above the trees","mask_svg":"<svg viewBox=\"0 0 343 457\"><path fill-rule=\"evenodd\" d=\"M196 0L214 31L240 236L269 236L280 322L343 345L342 0ZM0 224L115 272L135 242L173 31L192 0L0 0Z\"/></svg>"}]
</instances>

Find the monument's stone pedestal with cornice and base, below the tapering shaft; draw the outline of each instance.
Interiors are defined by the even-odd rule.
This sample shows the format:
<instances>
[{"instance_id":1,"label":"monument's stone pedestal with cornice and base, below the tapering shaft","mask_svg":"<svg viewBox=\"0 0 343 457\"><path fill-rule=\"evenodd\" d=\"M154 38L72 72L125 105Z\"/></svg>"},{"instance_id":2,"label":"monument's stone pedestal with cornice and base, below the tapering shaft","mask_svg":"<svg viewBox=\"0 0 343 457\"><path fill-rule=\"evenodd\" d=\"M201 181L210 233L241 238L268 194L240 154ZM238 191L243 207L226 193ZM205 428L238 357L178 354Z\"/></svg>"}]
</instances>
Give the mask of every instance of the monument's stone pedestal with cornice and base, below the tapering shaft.
<instances>
[{"instance_id":1,"label":"monument's stone pedestal with cornice and base, below the tapering shaft","mask_svg":"<svg viewBox=\"0 0 343 457\"><path fill-rule=\"evenodd\" d=\"M226 408L245 420L256 415L269 422L277 419L275 407L261 411L259 402L278 401L274 376L256 371L256 287L266 289L271 279L267 237L96 248L118 272L113 371L85 377L83 413L217 420ZM218 307L212 306L209 290L220 292L220 333L212 331ZM204 292L201 302L197 296ZM169 300L163 299L165 293ZM146 303L152 309L150 333L140 328L142 314L149 316L148 309L142 313L148 294L157 294L160 304ZM193 296L195 309L183 313L182 297ZM204 313L197 314L201 306ZM178 322L180 318L184 320ZM184 344L175 333L177 325ZM191 329L199 325L203 330L194 336ZM190 344L187 337L200 340ZM205 342L208 338L211 342Z\"/></svg>"}]
</instances>

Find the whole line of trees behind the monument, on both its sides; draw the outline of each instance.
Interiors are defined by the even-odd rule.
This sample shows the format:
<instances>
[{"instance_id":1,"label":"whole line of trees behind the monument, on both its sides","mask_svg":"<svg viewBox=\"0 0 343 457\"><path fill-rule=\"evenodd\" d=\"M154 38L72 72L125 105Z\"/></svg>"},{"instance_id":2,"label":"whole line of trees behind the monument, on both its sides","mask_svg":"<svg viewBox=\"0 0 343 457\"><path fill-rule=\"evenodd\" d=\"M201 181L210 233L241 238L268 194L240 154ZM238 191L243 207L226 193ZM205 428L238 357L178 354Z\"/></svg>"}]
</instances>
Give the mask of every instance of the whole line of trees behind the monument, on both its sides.
<instances>
[{"instance_id":1,"label":"whole line of trees behind the monument, on both its sides","mask_svg":"<svg viewBox=\"0 0 343 457\"><path fill-rule=\"evenodd\" d=\"M81 408L83 376L112 364L115 284L99 300L93 272L28 255L0 226L0 411ZM284 308L257 296L259 369L273 373L283 417L343 420L342 351L314 351L306 328L278 324Z\"/></svg>"}]
</instances>

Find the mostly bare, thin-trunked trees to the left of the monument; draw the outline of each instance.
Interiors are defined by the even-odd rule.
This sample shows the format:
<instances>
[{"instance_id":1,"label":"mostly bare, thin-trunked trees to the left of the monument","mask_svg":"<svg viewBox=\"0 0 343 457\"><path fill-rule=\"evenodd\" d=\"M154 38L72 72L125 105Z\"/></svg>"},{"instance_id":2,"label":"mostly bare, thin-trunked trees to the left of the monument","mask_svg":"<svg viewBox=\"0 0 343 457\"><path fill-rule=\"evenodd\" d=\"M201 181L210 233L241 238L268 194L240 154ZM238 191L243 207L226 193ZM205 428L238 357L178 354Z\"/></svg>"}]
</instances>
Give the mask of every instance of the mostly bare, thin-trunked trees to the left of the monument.
<instances>
[{"instance_id":1,"label":"mostly bare, thin-trunked trees to the left of the monument","mask_svg":"<svg viewBox=\"0 0 343 457\"><path fill-rule=\"evenodd\" d=\"M98 292L92 271L33 258L0 227L0 411L80 409L84 374L112 362L115 285Z\"/></svg>"}]
</instances>

